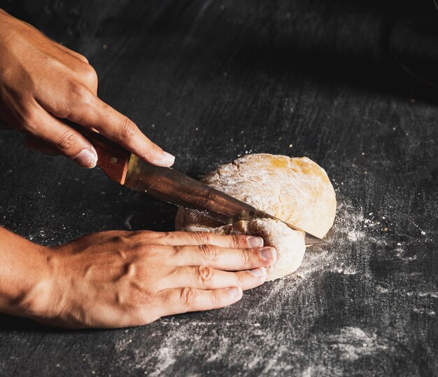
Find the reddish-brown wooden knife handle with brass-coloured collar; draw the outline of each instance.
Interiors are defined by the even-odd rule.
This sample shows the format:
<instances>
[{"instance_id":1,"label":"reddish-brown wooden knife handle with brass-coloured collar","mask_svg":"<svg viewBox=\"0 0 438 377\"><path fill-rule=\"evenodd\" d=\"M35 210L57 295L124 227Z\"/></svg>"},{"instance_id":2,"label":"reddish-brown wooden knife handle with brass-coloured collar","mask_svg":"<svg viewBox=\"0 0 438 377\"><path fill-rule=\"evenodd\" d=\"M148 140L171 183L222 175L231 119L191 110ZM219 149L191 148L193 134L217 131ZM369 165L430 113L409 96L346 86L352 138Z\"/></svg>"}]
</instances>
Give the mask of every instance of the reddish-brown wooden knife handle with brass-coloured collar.
<instances>
[{"instance_id":1,"label":"reddish-brown wooden knife handle with brass-coloured collar","mask_svg":"<svg viewBox=\"0 0 438 377\"><path fill-rule=\"evenodd\" d=\"M76 128L97 151L97 166L113 181L124 184L131 153L119 144L92 130Z\"/></svg>"}]
</instances>

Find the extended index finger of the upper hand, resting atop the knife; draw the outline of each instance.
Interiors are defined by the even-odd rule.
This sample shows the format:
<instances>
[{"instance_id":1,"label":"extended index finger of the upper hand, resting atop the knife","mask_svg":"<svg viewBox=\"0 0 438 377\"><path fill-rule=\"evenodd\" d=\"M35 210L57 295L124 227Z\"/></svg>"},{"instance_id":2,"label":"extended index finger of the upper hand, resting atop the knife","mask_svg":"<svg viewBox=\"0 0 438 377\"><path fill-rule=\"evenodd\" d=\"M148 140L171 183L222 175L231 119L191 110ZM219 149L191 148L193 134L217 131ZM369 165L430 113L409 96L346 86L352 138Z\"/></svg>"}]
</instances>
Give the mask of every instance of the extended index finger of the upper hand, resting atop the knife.
<instances>
[{"instance_id":1,"label":"extended index finger of the upper hand, resting atop the knife","mask_svg":"<svg viewBox=\"0 0 438 377\"><path fill-rule=\"evenodd\" d=\"M74 91L76 98L73 97L71 102L78 106L69 112L67 118L70 121L97 130L149 163L158 166L174 163L174 156L151 142L133 121L99 100L85 86Z\"/></svg>"}]
</instances>

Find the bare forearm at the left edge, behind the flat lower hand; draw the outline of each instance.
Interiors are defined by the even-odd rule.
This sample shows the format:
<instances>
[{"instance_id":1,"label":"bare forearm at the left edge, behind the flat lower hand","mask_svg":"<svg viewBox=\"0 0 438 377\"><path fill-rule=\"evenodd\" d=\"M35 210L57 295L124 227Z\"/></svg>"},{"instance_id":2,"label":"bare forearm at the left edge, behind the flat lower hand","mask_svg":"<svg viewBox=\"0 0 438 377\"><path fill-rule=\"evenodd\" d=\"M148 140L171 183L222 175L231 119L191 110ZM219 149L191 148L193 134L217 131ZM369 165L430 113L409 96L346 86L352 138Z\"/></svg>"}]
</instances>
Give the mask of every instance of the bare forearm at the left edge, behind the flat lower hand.
<instances>
[{"instance_id":1,"label":"bare forearm at the left edge, behind the flat lower hand","mask_svg":"<svg viewBox=\"0 0 438 377\"><path fill-rule=\"evenodd\" d=\"M50 296L49 266L44 247L0 227L0 312L44 315Z\"/></svg>"}]
</instances>

